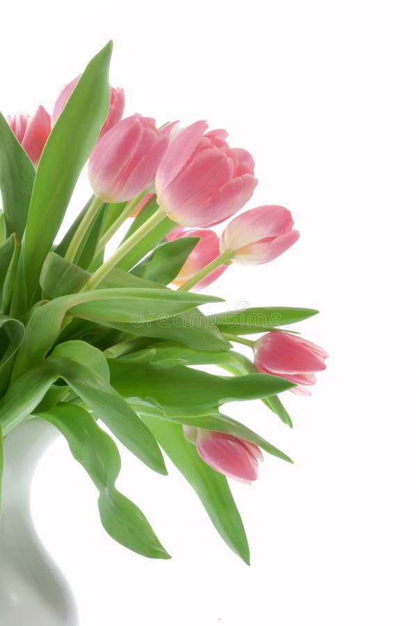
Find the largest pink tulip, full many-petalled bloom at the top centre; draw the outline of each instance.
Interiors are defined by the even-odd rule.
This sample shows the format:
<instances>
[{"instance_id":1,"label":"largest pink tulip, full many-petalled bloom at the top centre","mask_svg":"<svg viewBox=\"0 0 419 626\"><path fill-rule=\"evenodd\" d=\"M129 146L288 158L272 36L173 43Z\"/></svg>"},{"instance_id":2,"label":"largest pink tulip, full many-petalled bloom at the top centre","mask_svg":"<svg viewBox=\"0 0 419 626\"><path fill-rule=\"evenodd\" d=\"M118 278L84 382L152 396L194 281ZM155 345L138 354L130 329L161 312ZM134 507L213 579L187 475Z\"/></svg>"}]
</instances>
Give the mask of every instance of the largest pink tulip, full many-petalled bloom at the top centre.
<instances>
[{"instance_id":1,"label":"largest pink tulip, full many-petalled bloom at the top centre","mask_svg":"<svg viewBox=\"0 0 419 626\"><path fill-rule=\"evenodd\" d=\"M183 226L222 222L246 204L258 182L251 155L230 148L225 130L206 129L202 121L172 129L157 169L157 202Z\"/></svg>"}]
</instances>

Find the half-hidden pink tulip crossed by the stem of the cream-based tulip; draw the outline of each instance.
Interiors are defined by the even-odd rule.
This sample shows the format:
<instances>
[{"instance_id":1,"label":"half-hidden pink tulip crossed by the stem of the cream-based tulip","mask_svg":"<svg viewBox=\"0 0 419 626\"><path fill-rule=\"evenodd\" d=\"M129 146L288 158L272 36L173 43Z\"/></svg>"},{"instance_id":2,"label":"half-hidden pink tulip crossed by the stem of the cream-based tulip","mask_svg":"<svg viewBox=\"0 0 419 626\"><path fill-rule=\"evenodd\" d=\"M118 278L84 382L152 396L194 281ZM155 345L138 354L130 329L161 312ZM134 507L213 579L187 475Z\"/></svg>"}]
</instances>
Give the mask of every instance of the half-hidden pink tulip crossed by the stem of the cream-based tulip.
<instances>
[{"instance_id":1,"label":"half-hidden pink tulip crossed by the stem of the cream-based tulip","mask_svg":"<svg viewBox=\"0 0 419 626\"><path fill-rule=\"evenodd\" d=\"M182 237L200 237L200 240L195 248L193 248L187 261L180 270L180 273L178 273L175 280L173 280L173 283L178 286L187 282L189 278L196 275L201 269L219 257L220 254L219 237L213 230L203 230L200 228L184 230L182 227L177 227L168 234L167 239L168 241L174 241L175 239L182 239ZM214 271L205 276L203 280L198 282L193 289L204 289L204 287L207 287L214 282L214 280L219 278L227 268L227 265L217 267Z\"/></svg>"}]
</instances>

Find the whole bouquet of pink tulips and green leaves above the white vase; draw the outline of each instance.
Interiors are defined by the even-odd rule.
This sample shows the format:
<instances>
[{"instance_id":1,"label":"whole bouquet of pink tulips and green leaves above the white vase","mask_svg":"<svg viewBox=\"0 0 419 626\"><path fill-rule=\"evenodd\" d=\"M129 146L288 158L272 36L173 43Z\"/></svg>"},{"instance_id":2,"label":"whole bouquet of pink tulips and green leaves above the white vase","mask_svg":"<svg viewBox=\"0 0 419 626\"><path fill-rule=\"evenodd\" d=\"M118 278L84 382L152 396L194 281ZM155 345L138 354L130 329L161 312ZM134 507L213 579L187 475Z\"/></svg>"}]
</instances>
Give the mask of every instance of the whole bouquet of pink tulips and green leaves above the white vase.
<instances>
[{"instance_id":1,"label":"whole bouquet of pink tulips and green leaves above the white vase","mask_svg":"<svg viewBox=\"0 0 419 626\"><path fill-rule=\"evenodd\" d=\"M205 315L198 307L221 299L197 291L231 264L271 261L299 234L276 205L235 216L221 237L207 230L251 198L251 155L203 121L157 128L139 114L122 119L110 58L111 43L65 86L52 115L42 106L33 116L0 115L0 452L24 420L53 424L97 487L106 531L166 559L145 515L116 489L113 437L166 474L163 450L248 563L226 477L254 481L261 450L291 460L221 406L261 399L291 426L277 394L309 393L327 355L280 328L315 310ZM59 239L87 161L93 195ZM254 360L237 344L253 348ZM219 374L190 367L200 364Z\"/></svg>"}]
</instances>

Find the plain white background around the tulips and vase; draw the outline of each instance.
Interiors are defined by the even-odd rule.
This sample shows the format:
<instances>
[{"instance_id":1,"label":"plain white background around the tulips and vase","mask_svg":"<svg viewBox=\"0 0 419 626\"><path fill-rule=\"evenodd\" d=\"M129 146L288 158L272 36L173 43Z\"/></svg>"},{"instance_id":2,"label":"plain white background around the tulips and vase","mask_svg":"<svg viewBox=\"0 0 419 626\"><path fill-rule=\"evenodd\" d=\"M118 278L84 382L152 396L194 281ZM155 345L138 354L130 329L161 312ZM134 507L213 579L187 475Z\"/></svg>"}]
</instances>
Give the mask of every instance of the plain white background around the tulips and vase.
<instances>
[{"instance_id":1,"label":"plain white background around the tulips and vase","mask_svg":"<svg viewBox=\"0 0 419 626\"><path fill-rule=\"evenodd\" d=\"M52 109L109 38L127 113L204 118L255 157L249 207L284 204L299 243L236 266L210 292L315 307L324 346L311 399L288 393L290 431L261 403L228 407L295 460L232 484L251 568L230 553L176 470L122 454L120 488L171 561L102 531L95 490L64 442L33 510L79 602L81 626L418 624L418 18L407 1L73 0L2 8L1 110ZM59 164L57 164L59 167ZM74 204L74 210L78 204ZM265 455L266 456L266 455Z\"/></svg>"}]
</instances>

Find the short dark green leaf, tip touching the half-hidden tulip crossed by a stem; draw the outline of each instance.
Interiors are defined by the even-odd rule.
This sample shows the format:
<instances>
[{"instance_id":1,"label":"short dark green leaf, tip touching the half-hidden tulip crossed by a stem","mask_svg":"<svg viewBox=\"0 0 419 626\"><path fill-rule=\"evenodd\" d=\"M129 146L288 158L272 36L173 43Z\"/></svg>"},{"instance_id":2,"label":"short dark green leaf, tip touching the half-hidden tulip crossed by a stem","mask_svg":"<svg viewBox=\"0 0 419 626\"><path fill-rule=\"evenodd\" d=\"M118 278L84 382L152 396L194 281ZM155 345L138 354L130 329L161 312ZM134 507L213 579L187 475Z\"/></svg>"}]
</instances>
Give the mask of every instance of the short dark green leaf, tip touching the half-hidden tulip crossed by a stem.
<instances>
[{"instance_id":1,"label":"short dark green leaf, tip touching the half-hidden tulip crossed by a stem","mask_svg":"<svg viewBox=\"0 0 419 626\"><path fill-rule=\"evenodd\" d=\"M161 284L169 284L175 280L199 239L183 237L162 243L148 259L137 265L132 273Z\"/></svg>"}]
</instances>

